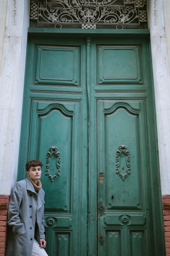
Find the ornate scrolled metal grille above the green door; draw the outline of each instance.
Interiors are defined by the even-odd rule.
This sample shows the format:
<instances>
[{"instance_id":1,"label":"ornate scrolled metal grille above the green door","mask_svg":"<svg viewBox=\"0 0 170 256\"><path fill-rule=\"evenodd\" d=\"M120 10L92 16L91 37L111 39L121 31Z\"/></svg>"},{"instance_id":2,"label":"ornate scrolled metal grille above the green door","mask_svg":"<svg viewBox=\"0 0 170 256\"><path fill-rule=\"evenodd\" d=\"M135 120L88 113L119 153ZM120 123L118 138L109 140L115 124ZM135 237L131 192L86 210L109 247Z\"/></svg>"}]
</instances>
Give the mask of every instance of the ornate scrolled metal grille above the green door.
<instances>
[{"instance_id":1,"label":"ornate scrolled metal grille above the green door","mask_svg":"<svg viewBox=\"0 0 170 256\"><path fill-rule=\"evenodd\" d=\"M147 28L147 0L31 0L30 27Z\"/></svg>"}]
</instances>

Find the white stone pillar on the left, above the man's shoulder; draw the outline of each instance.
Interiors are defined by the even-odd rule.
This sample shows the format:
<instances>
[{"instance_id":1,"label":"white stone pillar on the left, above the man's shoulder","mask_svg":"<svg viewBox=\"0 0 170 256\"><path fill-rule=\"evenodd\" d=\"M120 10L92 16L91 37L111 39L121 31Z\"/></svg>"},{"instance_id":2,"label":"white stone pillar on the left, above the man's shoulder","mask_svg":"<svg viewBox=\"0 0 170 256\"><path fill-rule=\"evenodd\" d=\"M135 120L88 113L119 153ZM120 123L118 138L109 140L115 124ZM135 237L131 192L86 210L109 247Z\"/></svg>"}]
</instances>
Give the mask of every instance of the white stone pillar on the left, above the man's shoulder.
<instances>
[{"instance_id":1,"label":"white stone pillar on the left, above the man's shoulder","mask_svg":"<svg viewBox=\"0 0 170 256\"><path fill-rule=\"evenodd\" d=\"M29 1L8 0L0 72L0 195L9 195L18 172L28 26Z\"/></svg>"}]
</instances>

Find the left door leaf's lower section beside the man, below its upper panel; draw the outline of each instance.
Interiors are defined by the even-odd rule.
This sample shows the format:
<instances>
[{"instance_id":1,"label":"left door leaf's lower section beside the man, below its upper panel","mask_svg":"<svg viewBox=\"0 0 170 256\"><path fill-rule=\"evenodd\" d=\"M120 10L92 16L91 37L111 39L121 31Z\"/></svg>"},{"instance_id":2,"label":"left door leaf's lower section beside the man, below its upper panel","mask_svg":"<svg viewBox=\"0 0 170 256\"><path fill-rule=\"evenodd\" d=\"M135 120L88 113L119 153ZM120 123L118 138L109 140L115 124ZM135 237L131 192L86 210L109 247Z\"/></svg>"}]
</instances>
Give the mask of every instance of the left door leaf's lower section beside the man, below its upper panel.
<instances>
[{"instance_id":1,"label":"left door leaf's lower section beside the man, below its upper panel","mask_svg":"<svg viewBox=\"0 0 170 256\"><path fill-rule=\"evenodd\" d=\"M38 159L46 159L41 182L46 193L46 239L51 245L47 249L51 255L78 255L73 241L78 239L82 226L78 215L81 173L77 161L82 143L77 129L80 103L33 100L31 112L30 147L35 148ZM33 158L31 154L33 150Z\"/></svg>"}]
</instances>

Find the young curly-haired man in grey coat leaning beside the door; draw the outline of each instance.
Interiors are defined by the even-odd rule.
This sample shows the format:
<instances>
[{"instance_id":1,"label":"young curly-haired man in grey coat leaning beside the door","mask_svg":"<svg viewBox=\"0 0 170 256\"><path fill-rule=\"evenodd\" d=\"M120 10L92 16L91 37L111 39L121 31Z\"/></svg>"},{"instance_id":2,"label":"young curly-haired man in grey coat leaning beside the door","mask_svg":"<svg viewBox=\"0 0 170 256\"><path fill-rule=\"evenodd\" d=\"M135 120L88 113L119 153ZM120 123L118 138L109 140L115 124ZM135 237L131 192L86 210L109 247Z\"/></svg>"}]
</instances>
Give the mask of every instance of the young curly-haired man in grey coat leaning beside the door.
<instances>
[{"instance_id":1,"label":"young curly-haired man in grey coat leaning beside the door","mask_svg":"<svg viewBox=\"0 0 170 256\"><path fill-rule=\"evenodd\" d=\"M16 182L8 207L6 256L48 256L44 235L44 190L40 182L42 162L26 163L25 180Z\"/></svg>"}]
</instances>

